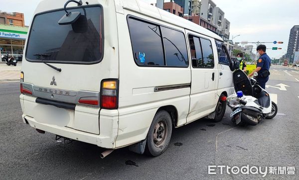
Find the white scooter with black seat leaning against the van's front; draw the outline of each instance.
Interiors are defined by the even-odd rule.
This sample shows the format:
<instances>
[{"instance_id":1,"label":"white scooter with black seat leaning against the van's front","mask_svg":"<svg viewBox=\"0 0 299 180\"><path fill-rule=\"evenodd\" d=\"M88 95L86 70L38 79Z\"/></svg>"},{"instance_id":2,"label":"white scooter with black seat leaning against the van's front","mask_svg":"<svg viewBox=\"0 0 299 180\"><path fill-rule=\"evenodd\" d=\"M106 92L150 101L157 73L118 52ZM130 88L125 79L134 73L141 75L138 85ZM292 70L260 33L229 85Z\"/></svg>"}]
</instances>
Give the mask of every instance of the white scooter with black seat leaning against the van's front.
<instances>
[{"instance_id":1,"label":"white scooter with black seat leaning against the van's front","mask_svg":"<svg viewBox=\"0 0 299 180\"><path fill-rule=\"evenodd\" d=\"M237 94L227 97L227 105L233 110L230 114L236 125L256 125L262 119L276 116L277 105L271 101L269 93L262 89L255 77L248 78L242 70L233 73L234 87Z\"/></svg>"}]
</instances>

